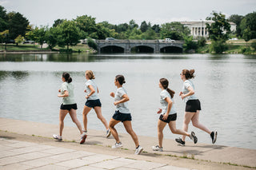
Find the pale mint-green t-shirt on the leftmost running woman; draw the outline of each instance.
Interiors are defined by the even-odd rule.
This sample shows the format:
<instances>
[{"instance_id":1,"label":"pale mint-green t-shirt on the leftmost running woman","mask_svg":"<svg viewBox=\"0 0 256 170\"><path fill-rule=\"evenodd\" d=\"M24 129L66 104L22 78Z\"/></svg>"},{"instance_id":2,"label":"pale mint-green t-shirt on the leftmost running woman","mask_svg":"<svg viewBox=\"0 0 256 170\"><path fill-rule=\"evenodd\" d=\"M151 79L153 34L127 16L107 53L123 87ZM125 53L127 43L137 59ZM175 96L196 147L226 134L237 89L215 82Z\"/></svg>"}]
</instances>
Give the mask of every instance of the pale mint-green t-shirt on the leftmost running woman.
<instances>
[{"instance_id":1,"label":"pale mint-green t-shirt on the leftmost running woman","mask_svg":"<svg viewBox=\"0 0 256 170\"><path fill-rule=\"evenodd\" d=\"M62 98L63 105L75 104L75 101L74 101L74 85L72 83L67 83L67 82L62 83L61 93L64 94L64 91L68 91L69 96Z\"/></svg>"}]
</instances>

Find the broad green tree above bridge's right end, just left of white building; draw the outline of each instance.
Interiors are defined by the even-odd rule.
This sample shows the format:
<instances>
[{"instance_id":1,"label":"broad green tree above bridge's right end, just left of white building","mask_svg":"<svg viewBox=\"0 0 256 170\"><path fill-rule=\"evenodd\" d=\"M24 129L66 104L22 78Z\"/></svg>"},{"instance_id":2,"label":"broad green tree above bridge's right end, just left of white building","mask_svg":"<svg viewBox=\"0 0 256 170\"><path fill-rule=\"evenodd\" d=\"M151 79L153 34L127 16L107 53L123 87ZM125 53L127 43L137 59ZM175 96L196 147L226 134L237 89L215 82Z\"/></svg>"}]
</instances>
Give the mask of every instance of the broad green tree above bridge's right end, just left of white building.
<instances>
[{"instance_id":1,"label":"broad green tree above bridge's right end, just left of white building","mask_svg":"<svg viewBox=\"0 0 256 170\"><path fill-rule=\"evenodd\" d=\"M188 36L189 34L189 28L182 25L180 22L162 24L160 31L161 38L170 38L174 40L182 40L184 36Z\"/></svg>"}]
</instances>

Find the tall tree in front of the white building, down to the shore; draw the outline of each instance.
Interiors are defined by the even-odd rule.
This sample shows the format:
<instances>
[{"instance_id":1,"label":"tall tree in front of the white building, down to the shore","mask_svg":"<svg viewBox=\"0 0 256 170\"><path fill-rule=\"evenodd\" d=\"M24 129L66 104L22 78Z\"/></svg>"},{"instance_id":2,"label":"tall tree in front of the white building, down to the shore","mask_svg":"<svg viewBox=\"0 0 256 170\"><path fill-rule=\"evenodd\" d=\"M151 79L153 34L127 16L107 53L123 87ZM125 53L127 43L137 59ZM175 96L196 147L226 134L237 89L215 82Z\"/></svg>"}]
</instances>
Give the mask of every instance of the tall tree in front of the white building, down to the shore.
<instances>
[{"instance_id":1,"label":"tall tree in front of the white building, down to the shore","mask_svg":"<svg viewBox=\"0 0 256 170\"><path fill-rule=\"evenodd\" d=\"M224 14L213 12L212 15L212 17L206 18L206 20L214 21L212 24L206 23L211 40L210 49L215 53L222 53L226 49L225 43L229 38L230 23Z\"/></svg>"}]
</instances>

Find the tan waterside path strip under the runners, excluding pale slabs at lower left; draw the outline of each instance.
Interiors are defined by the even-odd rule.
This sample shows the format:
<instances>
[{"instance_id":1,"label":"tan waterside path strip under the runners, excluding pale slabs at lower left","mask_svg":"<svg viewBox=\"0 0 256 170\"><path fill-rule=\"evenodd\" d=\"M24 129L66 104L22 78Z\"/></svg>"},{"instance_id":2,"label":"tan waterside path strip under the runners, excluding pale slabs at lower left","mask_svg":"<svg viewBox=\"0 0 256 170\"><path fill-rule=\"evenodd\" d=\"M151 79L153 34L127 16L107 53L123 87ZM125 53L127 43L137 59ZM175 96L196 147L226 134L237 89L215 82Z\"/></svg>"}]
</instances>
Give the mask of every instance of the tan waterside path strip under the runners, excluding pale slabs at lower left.
<instances>
[{"instance_id":1,"label":"tan waterside path strip under the runners, excluding pale slabs at lower left","mask_svg":"<svg viewBox=\"0 0 256 170\"><path fill-rule=\"evenodd\" d=\"M0 118L0 130L2 130L0 131L0 137L7 136L8 138L8 136L11 136L8 132L11 132L13 134L12 140L22 140L22 138L25 138L24 135L26 134L27 139L24 139L24 141L51 145L57 148L62 147L77 151L92 152L94 154L107 154L115 157L111 159L111 161L129 158L128 160L146 160L151 163L161 164L160 167L168 165L170 167L175 166L190 169L212 169L212 167L216 169L256 168L256 150L254 149L234 148L217 144L193 144L190 141L186 142L185 147L181 147L178 146L174 140L165 139L163 141L164 152L154 152L151 146L157 144L158 139L149 136L138 136L140 144L144 148L144 152L142 152L140 156L135 156L134 142L127 134L119 134L123 148L112 149L110 146L114 144L114 138L110 136L110 138L106 139L104 136L105 132L103 131L90 129L86 143L78 144L78 128L74 127L64 128L64 142L56 142L52 139L52 134L58 133L58 125ZM30 138L28 136L30 136ZM34 141L33 136L34 138L36 138L35 136L43 137L37 137L37 140ZM230 164L238 166L230 166ZM139 169L141 167L138 166L137 168Z\"/></svg>"}]
</instances>

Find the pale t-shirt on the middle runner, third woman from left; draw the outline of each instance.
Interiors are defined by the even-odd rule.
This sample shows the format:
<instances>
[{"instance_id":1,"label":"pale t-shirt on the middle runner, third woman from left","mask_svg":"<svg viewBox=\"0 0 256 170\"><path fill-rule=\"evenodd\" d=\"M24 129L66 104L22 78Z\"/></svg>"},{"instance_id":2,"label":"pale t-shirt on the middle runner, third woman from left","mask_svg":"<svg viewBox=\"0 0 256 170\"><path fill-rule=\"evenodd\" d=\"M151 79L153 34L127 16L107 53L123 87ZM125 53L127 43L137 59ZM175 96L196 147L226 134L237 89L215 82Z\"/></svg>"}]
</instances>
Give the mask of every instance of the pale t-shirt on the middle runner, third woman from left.
<instances>
[{"instance_id":1,"label":"pale t-shirt on the middle runner, third woman from left","mask_svg":"<svg viewBox=\"0 0 256 170\"><path fill-rule=\"evenodd\" d=\"M114 101L121 101L124 94L127 94L126 89L123 87L118 88L117 92L114 94ZM120 113L130 113L128 102L126 101L116 105L116 110L119 110Z\"/></svg>"}]
</instances>

